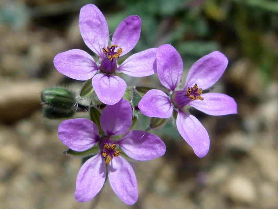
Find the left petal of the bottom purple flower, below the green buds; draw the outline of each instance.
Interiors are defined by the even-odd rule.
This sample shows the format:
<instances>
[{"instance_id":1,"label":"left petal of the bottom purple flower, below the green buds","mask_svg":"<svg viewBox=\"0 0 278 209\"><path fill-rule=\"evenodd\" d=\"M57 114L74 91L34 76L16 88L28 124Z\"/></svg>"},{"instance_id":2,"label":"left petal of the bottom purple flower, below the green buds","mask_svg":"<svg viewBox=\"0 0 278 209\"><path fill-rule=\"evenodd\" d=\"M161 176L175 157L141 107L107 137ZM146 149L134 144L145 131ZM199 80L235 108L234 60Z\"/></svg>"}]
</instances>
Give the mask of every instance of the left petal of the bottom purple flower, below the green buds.
<instances>
[{"instance_id":1,"label":"left petal of the bottom purple flower, below the green buds","mask_svg":"<svg viewBox=\"0 0 278 209\"><path fill-rule=\"evenodd\" d=\"M70 149L84 151L99 141L99 129L86 118L70 119L59 125L58 136Z\"/></svg>"}]
</instances>

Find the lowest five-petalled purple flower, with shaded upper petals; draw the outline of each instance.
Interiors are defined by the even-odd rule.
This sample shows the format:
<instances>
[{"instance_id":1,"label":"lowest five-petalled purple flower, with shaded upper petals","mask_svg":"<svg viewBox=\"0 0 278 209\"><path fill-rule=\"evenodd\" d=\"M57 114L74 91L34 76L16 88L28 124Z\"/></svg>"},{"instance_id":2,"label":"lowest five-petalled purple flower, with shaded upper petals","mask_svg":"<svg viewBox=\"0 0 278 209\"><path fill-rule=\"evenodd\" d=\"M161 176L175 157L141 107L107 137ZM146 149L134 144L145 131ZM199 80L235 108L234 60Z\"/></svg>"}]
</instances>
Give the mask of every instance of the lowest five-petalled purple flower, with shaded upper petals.
<instances>
[{"instance_id":1,"label":"lowest five-petalled purple flower, with shaded upper petals","mask_svg":"<svg viewBox=\"0 0 278 209\"><path fill-rule=\"evenodd\" d=\"M166 147L152 133L128 131L131 125L131 105L124 99L103 109L100 126L105 134L101 136L97 125L85 118L66 120L59 125L59 138L70 149L84 151L99 147L99 152L88 159L78 173L75 191L78 201L87 202L99 193L107 169L110 185L118 197L128 205L137 201L135 173L118 147L130 158L141 161L164 155Z\"/></svg>"}]
</instances>

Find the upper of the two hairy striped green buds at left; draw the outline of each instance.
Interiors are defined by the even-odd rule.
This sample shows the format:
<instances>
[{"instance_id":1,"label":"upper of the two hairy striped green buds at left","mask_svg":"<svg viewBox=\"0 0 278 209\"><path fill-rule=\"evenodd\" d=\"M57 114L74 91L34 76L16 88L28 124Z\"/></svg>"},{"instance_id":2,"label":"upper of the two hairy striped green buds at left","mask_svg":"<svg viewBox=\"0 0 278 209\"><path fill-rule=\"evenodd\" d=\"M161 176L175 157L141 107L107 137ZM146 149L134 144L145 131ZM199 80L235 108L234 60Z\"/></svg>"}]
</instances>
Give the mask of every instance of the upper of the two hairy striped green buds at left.
<instances>
[{"instance_id":1,"label":"upper of the two hairy striped green buds at left","mask_svg":"<svg viewBox=\"0 0 278 209\"><path fill-rule=\"evenodd\" d=\"M67 89L50 87L40 93L43 103L57 110L71 110L76 104L75 94Z\"/></svg>"}]
</instances>

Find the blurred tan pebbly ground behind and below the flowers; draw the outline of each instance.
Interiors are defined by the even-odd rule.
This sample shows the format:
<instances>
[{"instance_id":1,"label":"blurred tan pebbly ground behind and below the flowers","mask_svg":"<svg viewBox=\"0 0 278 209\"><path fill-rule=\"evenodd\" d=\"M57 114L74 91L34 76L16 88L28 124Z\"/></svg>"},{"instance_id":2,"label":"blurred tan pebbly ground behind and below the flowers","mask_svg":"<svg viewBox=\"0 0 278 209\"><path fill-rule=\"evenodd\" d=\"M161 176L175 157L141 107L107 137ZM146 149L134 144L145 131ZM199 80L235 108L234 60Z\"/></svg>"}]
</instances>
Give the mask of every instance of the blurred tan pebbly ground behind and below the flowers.
<instances>
[{"instance_id":1,"label":"blurred tan pebbly ground behind and below the flowers","mask_svg":"<svg viewBox=\"0 0 278 209\"><path fill-rule=\"evenodd\" d=\"M278 208L278 82L263 83L248 57L233 54L236 46L222 49L230 63L215 92L234 97L238 115L192 112L208 130L207 156L196 157L176 130L157 131L166 154L132 162L139 188L133 206L125 205L109 182L93 200L77 202L80 159L63 155L67 147L57 135L63 120L43 118L39 97L43 88L64 82L79 90L81 83L53 66L58 52L73 48L89 52L79 34L78 13L64 28L39 21L0 27L0 208Z\"/></svg>"}]
</instances>

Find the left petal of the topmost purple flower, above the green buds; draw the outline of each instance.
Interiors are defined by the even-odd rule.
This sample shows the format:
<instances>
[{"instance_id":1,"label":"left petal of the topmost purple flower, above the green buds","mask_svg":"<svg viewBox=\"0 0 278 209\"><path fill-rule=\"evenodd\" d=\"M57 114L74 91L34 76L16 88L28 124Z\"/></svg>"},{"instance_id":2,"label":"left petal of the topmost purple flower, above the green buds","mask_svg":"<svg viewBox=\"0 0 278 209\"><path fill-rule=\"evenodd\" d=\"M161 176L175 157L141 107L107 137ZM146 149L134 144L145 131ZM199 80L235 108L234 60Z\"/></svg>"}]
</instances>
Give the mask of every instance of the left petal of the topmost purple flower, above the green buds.
<instances>
[{"instance_id":1,"label":"left petal of the topmost purple flower, above the green buds","mask_svg":"<svg viewBox=\"0 0 278 209\"><path fill-rule=\"evenodd\" d=\"M80 49L57 54L54 57L54 66L65 76L79 81L90 79L98 70L91 55Z\"/></svg>"}]
</instances>

